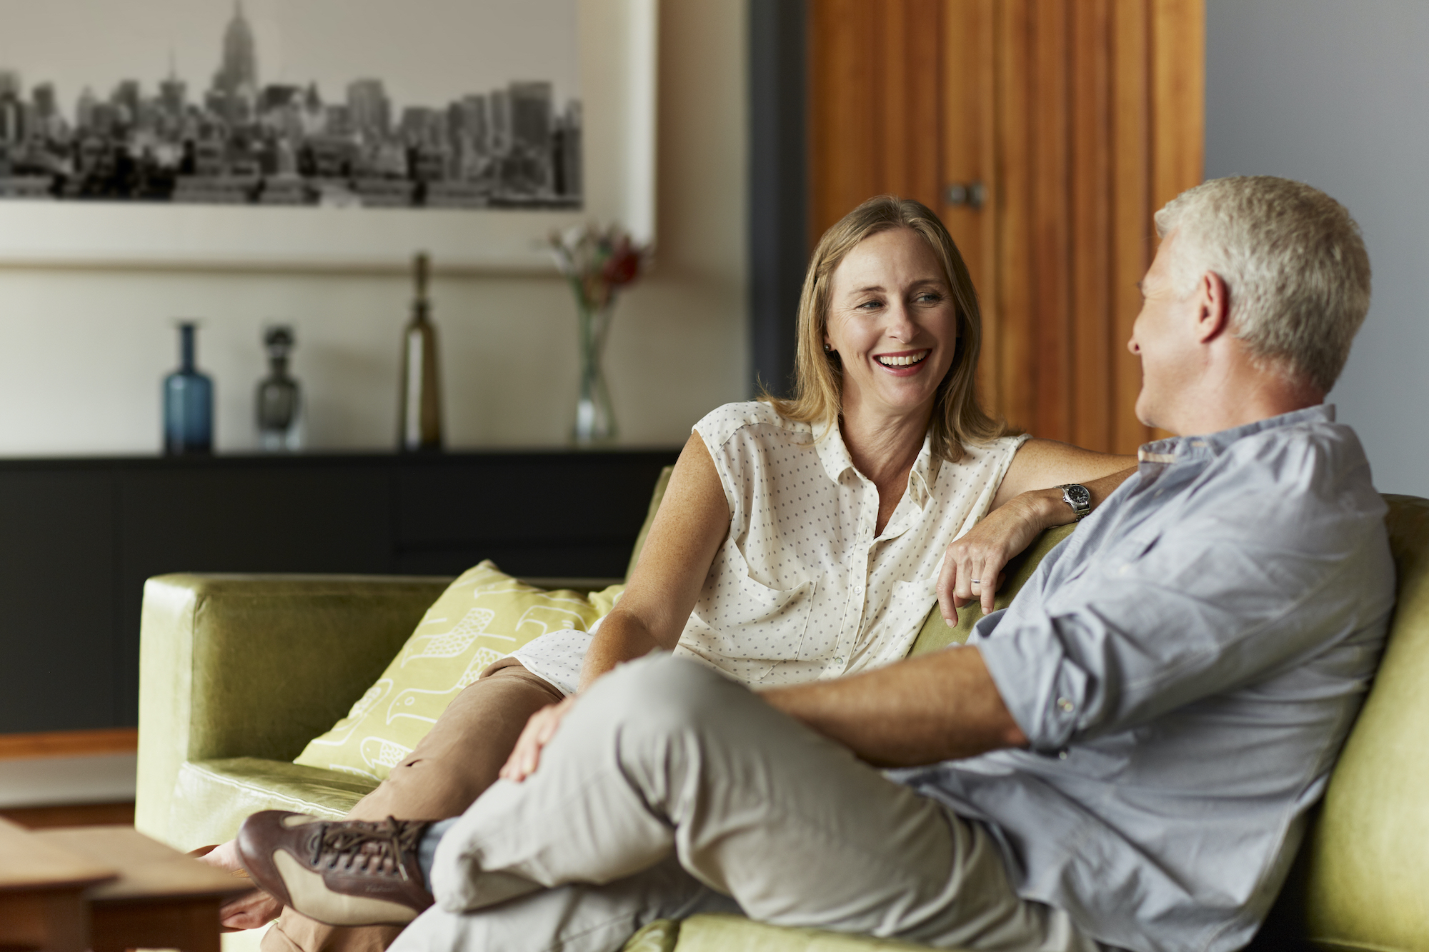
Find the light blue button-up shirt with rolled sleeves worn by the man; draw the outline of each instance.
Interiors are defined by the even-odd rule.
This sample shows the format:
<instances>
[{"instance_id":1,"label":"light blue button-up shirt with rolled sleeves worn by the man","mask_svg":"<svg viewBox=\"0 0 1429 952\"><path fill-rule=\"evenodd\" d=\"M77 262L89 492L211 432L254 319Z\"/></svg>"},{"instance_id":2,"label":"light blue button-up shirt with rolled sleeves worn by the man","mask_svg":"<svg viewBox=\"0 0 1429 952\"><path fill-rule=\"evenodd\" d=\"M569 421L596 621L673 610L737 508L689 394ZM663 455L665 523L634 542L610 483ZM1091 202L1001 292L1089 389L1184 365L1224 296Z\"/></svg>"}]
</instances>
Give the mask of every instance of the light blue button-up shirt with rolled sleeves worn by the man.
<instances>
[{"instance_id":1,"label":"light blue button-up shirt with rolled sleeves worn by the man","mask_svg":"<svg viewBox=\"0 0 1429 952\"><path fill-rule=\"evenodd\" d=\"M976 645L1027 750L892 776L985 822L1012 882L1145 952L1250 941L1395 598L1335 409L1147 443Z\"/></svg>"}]
</instances>

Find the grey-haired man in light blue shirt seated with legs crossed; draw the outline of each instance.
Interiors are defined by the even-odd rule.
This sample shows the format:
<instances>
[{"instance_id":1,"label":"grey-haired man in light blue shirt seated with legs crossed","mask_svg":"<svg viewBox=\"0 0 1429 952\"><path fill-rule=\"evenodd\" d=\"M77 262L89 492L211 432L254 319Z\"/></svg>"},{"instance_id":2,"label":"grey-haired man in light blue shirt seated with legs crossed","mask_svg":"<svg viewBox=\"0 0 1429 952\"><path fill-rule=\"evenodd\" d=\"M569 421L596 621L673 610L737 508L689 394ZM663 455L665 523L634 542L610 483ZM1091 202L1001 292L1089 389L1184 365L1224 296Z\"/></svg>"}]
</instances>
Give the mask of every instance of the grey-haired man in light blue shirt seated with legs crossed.
<instances>
[{"instance_id":1,"label":"grey-haired man in light blue shirt seated with legs crossed","mask_svg":"<svg viewBox=\"0 0 1429 952\"><path fill-rule=\"evenodd\" d=\"M1385 506L1322 406L1369 260L1343 207L1280 179L1208 182L1156 224L1136 410L1182 436L969 646L762 693L634 662L579 718L533 719L463 816L260 813L250 873L330 922L434 896L394 949L616 949L699 911L965 948L1245 945L1393 599Z\"/></svg>"}]
</instances>

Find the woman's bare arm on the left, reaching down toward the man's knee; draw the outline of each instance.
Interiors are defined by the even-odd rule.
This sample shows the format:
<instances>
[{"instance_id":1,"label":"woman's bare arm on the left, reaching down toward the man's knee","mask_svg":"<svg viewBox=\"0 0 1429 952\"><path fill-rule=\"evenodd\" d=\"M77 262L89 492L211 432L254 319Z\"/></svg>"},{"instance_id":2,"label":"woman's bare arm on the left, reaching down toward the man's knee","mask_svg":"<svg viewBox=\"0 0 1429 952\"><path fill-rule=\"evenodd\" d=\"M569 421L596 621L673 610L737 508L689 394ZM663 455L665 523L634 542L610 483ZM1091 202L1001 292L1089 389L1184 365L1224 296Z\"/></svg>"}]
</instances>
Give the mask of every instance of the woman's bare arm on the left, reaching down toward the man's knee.
<instances>
[{"instance_id":1,"label":"woman's bare arm on the left, reaching down toward the man's knee","mask_svg":"<svg viewBox=\"0 0 1429 952\"><path fill-rule=\"evenodd\" d=\"M674 650L714 555L729 535L729 500L714 460L690 433L620 603L600 622L580 668L580 689L652 649Z\"/></svg>"}]
</instances>

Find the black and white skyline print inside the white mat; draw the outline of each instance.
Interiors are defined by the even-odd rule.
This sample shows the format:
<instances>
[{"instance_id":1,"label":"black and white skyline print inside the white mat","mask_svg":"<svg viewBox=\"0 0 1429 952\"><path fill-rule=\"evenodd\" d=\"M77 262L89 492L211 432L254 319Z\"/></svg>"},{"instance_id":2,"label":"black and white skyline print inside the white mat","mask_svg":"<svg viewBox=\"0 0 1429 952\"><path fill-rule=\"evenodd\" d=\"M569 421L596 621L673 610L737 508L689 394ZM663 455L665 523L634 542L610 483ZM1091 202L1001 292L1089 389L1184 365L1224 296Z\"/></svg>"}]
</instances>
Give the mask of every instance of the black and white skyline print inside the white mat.
<instances>
[{"instance_id":1,"label":"black and white skyline print inside the white mat","mask_svg":"<svg viewBox=\"0 0 1429 952\"><path fill-rule=\"evenodd\" d=\"M582 207L576 0L0 0L0 199Z\"/></svg>"}]
</instances>

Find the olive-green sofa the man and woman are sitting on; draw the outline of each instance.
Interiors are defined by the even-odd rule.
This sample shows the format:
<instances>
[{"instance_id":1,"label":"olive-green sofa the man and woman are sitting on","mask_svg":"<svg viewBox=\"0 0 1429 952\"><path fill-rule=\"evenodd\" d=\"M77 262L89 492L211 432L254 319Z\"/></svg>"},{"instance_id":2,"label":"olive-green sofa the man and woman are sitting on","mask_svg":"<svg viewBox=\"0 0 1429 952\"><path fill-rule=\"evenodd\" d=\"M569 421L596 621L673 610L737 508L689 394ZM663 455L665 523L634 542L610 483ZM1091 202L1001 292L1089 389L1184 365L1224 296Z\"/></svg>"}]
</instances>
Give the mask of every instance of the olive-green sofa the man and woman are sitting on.
<instances>
[{"instance_id":1,"label":"olive-green sofa the man and woman are sitting on","mask_svg":"<svg viewBox=\"0 0 1429 952\"><path fill-rule=\"evenodd\" d=\"M656 489L653 516L663 492ZM1379 676L1279 905L1255 948L1429 952L1429 500L1386 496L1398 608ZM649 520L646 522L649 527ZM1009 567L1006 605L1070 532ZM644 532L640 540L643 543ZM633 562L633 557L632 557ZM372 785L292 759L406 642L450 579L169 575L144 587L136 825L179 849L233 836L249 813L342 816ZM963 640L929 615L912 653ZM903 942L737 916L656 922L630 952L857 952Z\"/></svg>"}]
</instances>

